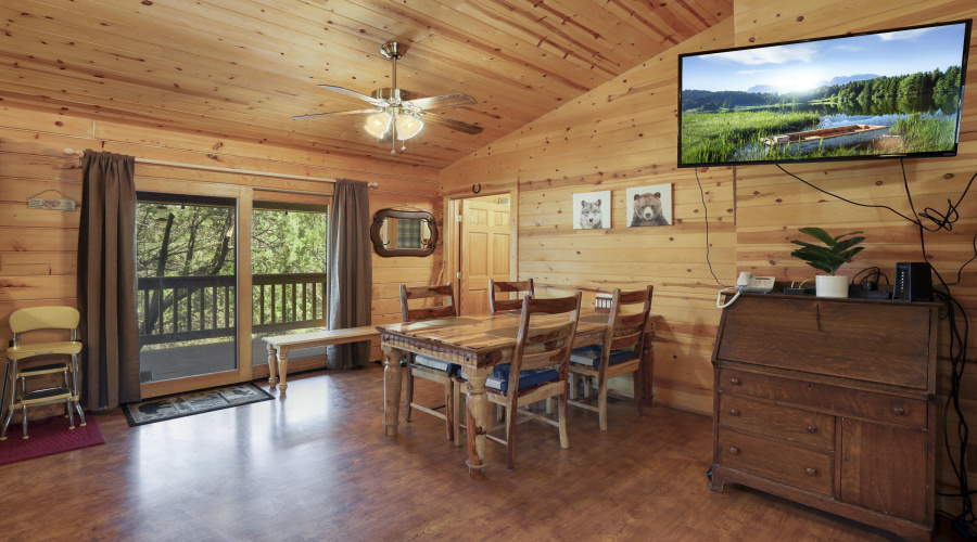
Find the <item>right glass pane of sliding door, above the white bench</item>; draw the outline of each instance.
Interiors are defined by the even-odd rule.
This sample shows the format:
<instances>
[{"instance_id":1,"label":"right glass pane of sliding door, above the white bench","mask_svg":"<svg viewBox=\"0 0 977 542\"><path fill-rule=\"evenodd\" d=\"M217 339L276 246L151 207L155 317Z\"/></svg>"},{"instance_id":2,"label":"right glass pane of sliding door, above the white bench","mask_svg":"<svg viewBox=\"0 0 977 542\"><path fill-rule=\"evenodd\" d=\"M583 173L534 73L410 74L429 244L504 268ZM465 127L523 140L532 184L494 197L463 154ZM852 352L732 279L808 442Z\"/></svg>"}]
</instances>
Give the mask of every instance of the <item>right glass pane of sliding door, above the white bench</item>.
<instances>
[{"instance_id":1,"label":"right glass pane of sliding door, above the white bench","mask_svg":"<svg viewBox=\"0 0 977 542\"><path fill-rule=\"evenodd\" d=\"M252 364L268 363L262 337L326 326L326 206L255 203L251 221ZM326 348L289 350L289 361L325 357Z\"/></svg>"}]
</instances>

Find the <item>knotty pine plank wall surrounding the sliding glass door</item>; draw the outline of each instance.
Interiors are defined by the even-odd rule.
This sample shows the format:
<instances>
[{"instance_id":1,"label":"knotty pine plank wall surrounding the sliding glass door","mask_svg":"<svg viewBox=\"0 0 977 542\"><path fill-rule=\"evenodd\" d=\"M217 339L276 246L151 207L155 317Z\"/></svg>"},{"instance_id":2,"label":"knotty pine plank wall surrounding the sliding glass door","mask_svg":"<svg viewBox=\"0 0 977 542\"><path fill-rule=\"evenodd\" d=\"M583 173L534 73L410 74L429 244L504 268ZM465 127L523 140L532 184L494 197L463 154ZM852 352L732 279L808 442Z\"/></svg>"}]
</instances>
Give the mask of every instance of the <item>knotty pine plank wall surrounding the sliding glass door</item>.
<instances>
[{"instance_id":1,"label":"knotty pine plank wall surrounding the sliding glass door","mask_svg":"<svg viewBox=\"0 0 977 542\"><path fill-rule=\"evenodd\" d=\"M46 190L80 198L81 169L77 157L64 154L65 147L104 150L181 164L377 182L379 186L370 190L371 212L383 207L409 206L441 216L437 171L431 168L378 164L316 150L92 120L50 111L0 107L0 351L11 338L9 317L14 310L75 305L79 212L28 209L26 205L27 197ZM162 179L322 194L331 194L333 189L332 183L326 182L145 164L136 165L136 177L137 186L141 180ZM53 193L46 195L61 197ZM290 201L295 197L288 196ZM429 284L440 280L442 273L440 249L428 258L375 255L373 264L373 323L399 321L397 286L402 281ZM250 269L243 264L241 268ZM371 359L380 359L377 344ZM256 371L256 376L261 374L267 375L267 369Z\"/></svg>"}]
</instances>

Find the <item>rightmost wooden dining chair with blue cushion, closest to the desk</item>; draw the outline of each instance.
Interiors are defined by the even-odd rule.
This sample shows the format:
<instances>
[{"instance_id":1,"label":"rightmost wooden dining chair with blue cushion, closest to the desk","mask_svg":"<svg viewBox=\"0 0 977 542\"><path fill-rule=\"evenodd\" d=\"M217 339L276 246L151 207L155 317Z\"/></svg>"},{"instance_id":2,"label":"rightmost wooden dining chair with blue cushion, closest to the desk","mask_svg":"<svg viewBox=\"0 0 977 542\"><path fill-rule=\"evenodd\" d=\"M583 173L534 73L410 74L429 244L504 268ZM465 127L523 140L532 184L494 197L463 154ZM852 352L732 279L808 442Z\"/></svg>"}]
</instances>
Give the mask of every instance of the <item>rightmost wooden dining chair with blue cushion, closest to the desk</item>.
<instances>
[{"instance_id":1,"label":"rightmost wooden dining chair with blue cushion, closest to the desk","mask_svg":"<svg viewBox=\"0 0 977 542\"><path fill-rule=\"evenodd\" d=\"M583 376L587 383L586 397L570 403L597 412L600 430L607 430L607 383L616 376L634 373L634 409L638 416L642 415L642 352L654 289L652 286L634 292L614 289L604 343L574 348L570 356L570 372L574 376ZM621 308L627 306L640 306L640 310L621 313ZM594 379L597 380L596 396L592 395L591 382ZM584 402L594 399L597 399L597 406Z\"/></svg>"}]
</instances>

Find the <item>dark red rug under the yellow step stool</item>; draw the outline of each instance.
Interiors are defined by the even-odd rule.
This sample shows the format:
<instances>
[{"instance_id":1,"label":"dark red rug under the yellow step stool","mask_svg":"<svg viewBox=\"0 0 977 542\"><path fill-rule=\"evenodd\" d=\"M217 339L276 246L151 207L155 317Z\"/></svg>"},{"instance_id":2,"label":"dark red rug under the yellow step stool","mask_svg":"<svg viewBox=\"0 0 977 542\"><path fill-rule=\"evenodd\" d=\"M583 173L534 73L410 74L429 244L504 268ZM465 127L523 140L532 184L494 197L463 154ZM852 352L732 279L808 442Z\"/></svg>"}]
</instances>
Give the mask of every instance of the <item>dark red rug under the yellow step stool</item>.
<instances>
[{"instance_id":1,"label":"dark red rug under the yellow step stool","mask_svg":"<svg viewBox=\"0 0 977 542\"><path fill-rule=\"evenodd\" d=\"M27 422L30 438L26 440L21 438L21 424L11 422L7 440L0 440L0 465L104 444L105 437L94 416L86 413L85 420L88 425L81 427L76 415L74 429L68 429L68 420L63 415L31 420Z\"/></svg>"}]
</instances>

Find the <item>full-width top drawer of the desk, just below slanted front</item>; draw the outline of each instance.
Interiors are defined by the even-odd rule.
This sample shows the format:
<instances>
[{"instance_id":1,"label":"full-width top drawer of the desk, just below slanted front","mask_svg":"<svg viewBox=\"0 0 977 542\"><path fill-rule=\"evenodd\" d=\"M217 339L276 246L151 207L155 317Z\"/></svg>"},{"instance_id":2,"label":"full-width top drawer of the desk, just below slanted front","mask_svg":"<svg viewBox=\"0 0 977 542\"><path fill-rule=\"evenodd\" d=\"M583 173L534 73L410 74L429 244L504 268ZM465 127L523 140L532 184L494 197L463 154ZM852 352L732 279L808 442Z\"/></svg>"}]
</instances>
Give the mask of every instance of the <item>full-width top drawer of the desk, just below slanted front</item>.
<instances>
[{"instance_id":1,"label":"full-width top drawer of the desk, just below slanted front","mask_svg":"<svg viewBox=\"0 0 977 542\"><path fill-rule=\"evenodd\" d=\"M723 393L769 399L781 404L810 408L842 416L865 417L927 429L926 401L853 388L841 388L779 378L734 369L721 369Z\"/></svg>"}]
</instances>

